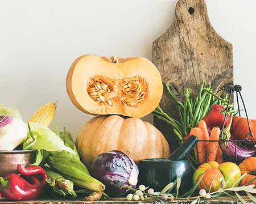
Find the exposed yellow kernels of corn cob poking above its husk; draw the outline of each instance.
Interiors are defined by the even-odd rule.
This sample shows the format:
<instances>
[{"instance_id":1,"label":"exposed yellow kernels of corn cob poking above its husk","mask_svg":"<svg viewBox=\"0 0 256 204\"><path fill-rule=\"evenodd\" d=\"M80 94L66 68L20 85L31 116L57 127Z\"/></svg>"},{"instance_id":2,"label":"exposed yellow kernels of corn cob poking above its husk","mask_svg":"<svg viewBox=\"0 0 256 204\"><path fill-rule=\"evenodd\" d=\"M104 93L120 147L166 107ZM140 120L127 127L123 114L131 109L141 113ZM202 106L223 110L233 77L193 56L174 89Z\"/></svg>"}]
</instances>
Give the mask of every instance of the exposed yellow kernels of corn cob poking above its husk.
<instances>
[{"instance_id":1,"label":"exposed yellow kernels of corn cob poking above its husk","mask_svg":"<svg viewBox=\"0 0 256 204\"><path fill-rule=\"evenodd\" d=\"M36 111L28 122L35 122L39 125L49 126L55 117L57 101L43 105Z\"/></svg>"}]
</instances>

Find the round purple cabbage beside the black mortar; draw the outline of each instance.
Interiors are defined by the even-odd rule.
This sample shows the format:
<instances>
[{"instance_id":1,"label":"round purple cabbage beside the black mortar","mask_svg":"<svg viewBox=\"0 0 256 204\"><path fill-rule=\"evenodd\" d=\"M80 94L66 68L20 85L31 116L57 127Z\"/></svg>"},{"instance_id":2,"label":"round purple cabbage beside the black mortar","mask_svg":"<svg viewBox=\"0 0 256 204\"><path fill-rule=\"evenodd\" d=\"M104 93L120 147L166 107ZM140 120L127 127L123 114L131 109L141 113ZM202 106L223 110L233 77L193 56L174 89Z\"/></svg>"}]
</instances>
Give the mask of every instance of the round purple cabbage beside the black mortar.
<instances>
[{"instance_id":1,"label":"round purple cabbage beside the black mortar","mask_svg":"<svg viewBox=\"0 0 256 204\"><path fill-rule=\"evenodd\" d=\"M134 161L121 151L108 151L99 155L90 167L90 175L106 186L108 196L122 196L138 182L139 168Z\"/></svg>"}]
</instances>

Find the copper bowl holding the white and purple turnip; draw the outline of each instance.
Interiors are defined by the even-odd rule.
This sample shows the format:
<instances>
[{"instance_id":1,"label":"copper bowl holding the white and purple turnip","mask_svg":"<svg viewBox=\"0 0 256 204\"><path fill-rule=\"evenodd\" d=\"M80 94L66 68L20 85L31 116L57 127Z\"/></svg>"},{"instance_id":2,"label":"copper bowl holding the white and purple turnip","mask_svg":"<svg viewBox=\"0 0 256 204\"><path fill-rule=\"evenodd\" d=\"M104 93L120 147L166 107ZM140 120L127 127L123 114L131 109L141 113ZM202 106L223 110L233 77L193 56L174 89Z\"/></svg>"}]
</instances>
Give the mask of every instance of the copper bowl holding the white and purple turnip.
<instances>
[{"instance_id":1,"label":"copper bowl holding the white and purple turnip","mask_svg":"<svg viewBox=\"0 0 256 204\"><path fill-rule=\"evenodd\" d=\"M34 163L36 150L0 150L0 176L5 177L9 173L18 173L17 165L24 167Z\"/></svg>"}]
</instances>

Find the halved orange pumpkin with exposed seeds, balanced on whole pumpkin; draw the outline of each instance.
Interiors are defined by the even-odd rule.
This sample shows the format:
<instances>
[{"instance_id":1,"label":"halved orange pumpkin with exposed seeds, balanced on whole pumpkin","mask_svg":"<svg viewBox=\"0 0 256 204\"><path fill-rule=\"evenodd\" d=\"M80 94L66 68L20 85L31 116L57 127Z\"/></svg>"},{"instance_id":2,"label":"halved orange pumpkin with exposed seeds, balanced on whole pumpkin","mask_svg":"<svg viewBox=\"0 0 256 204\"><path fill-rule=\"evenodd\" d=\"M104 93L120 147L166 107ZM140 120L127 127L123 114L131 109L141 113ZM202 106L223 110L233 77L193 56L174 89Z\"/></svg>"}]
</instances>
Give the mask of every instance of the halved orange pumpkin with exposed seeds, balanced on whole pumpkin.
<instances>
[{"instance_id":1,"label":"halved orange pumpkin with exposed seeds, balanced on whole pumpkin","mask_svg":"<svg viewBox=\"0 0 256 204\"><path fill-rule=\"evenodd\" d=\"M163 94L159 71L143 57L86 54L71 65L66 85L72 103L93 115L143 117L154 111Z\"/></svg>"}]
</instances>

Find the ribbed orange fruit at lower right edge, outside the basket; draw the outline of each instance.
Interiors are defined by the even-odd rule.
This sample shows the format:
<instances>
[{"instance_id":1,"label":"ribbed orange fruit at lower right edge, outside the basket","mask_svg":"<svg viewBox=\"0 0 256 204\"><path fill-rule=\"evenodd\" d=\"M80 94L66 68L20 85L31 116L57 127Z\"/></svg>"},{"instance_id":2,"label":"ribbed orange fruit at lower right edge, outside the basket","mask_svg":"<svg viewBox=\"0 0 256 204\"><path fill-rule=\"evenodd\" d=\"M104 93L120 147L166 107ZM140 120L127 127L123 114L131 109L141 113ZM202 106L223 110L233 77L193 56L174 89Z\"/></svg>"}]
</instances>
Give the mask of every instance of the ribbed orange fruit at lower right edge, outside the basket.
<instances>
[{"instance_id":1,"label":"ribbed orange fruit at lower right edge, outside the basket","mask_svg":"<svg viewBox=\"0 0 256 204\"><path fill-rule=\"evenodd\" d=\"M247 173L247 175L240 181L240 186L243 186L256 177L256 157L252 156L243 160L243 162L239 164L239 168L242 175L243 173ZM254 184L254 188L256 188L256 180L250 182L249 185L251 184Z\"/></svg>"}]
</instances>

